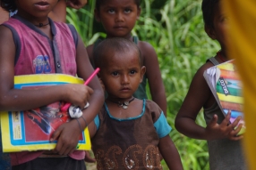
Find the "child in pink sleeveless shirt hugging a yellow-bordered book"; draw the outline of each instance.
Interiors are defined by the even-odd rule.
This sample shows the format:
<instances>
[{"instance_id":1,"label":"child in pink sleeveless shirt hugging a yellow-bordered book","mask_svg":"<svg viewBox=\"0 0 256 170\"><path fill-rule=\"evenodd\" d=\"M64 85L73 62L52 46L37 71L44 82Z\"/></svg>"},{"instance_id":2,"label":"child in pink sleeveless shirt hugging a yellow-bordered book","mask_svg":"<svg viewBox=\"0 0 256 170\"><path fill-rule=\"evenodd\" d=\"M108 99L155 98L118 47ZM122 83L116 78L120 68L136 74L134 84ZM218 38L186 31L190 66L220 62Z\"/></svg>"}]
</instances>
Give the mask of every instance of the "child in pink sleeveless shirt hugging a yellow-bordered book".
<instances>
[{"instance_id":1,"label":"child in pink sleeveless shirt hugging a yellow-bordered book","mask_svg":"<svg viewBox=\"0 0 256 170\"><path fill-rule=\"evenodd\" d=\"M83 108L82 117L60 125L50 141L55 150L11 153L15 169L85 169L84 151L75 150L81 131L97 115L104 101L98 78L87 85L53 85L38 90L13 89L13 77L63 73L86 80L93 69L75 28L48 18L58 0L1 1L6 11L18 13L0 26L0 110L28 110L56 101ZM86 123L87 122L87 123Z\"/></svg>"}]
</instances>

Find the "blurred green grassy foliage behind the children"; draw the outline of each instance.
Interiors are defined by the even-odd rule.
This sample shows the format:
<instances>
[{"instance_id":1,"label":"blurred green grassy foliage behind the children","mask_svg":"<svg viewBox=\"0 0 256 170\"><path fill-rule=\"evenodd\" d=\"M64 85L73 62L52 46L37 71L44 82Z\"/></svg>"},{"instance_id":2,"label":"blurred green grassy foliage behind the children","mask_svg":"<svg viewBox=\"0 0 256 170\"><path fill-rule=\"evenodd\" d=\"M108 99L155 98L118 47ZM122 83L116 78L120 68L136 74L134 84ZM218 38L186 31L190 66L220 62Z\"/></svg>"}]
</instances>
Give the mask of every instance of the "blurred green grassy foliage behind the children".
<instances>
[{"instance_id":1,"label":"blurred green grassy foliage behind the children","mask_svg":"<svg viewBox=\"0 0 256 170\"><path fill-rule=\"evenodd\" d=\"M93 18L94 7L95 0L89 0L79 11L67 9L67 22L77 28L85 45L93 44L98 36L105 36L104 29ZM219 49L217 42L204 32L201 0L144 0L141 2L140 20L132 34L149 42L158 53L166 87L167 120L174 128L170 136L179 150L183 168L208 170L207 142L179 134L174 125L175 115L193 75ZM197 123L205 126L202 113ZM165 162L162 163L167 169Z\"/></svg>"}]
</instances>

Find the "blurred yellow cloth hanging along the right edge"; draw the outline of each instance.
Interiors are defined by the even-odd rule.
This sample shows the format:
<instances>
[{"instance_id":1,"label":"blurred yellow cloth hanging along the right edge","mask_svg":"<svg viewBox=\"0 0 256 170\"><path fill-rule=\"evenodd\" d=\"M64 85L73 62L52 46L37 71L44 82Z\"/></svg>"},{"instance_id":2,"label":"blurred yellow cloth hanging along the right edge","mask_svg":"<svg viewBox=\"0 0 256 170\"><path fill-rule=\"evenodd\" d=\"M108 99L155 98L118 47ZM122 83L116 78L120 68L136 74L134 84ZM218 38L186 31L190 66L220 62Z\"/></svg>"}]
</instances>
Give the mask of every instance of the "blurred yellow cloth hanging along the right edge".
<instances>
[{"instance_id":1,"label":"blurred yellow cloth hanging along the right edge","mask_svg":"<svg viewBox=\"0 0 256 170\"><path fill-rule=\"evenodd\" d=\"M250 169L256 169L256 1L223 0L230 18L229 56L235 58L243 82L246 133L243 146Z\"/></svg>"}]
</instances>

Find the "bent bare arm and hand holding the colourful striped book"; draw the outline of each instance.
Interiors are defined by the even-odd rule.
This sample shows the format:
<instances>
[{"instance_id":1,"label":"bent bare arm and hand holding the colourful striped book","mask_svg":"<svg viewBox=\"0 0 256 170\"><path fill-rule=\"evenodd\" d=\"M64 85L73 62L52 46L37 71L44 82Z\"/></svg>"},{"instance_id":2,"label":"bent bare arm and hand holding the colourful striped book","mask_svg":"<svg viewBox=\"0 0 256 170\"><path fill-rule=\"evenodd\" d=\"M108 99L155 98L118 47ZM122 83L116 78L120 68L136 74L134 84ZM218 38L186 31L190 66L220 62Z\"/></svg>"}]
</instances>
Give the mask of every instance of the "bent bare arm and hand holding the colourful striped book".
<instances>
[{"instance_id":1,"label":"bent bare arm and hand holding the colourful striped book","mask_svg":"<svg viewBox=\"0 0 256 170\"><path fill-rule=\"evenodd\" d=\"M195 119L201 108L203 106L209 108L215 102L209 86L203 77L204 70L211 66L211 63L206 63L193 77L189 92L175 118L175 127L180 133L196 139L216 140L229 138L239 140L243 136L235 136L237 133L234 131L234 128L231 128L231 126L237 125L238 120L235 121L234 124L227 126L228 117L226 117L226 119L218 125L218 117L215 115L206 128L195 123Z\"/></svg>"}]
</instances>

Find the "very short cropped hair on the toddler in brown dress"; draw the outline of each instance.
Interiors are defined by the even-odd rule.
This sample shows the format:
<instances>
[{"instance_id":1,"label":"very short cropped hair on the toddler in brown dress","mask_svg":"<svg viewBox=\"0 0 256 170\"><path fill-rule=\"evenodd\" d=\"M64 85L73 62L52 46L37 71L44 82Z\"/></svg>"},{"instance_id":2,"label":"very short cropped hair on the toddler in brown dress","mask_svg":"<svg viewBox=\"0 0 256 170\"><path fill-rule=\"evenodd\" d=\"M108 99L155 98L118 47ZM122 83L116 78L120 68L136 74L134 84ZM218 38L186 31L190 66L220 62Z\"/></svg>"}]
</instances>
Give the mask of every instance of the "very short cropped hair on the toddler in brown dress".
<instances>
[{"instance_id":1,"label":"very short cropped hair on the toddler in brown dress","mask_svg":"<svg viewBox=\"0 0 256 170\"><path fill-rule=\"evenodd\" d=\"M129 51L136 51L138 53L140 66L142 66L141 50L131 40L121 37L107 38L100 42L94 50L93 59L95 66L100 69L104 67L103 59L107 58L107 54L111 55L115 52L127 53Z\"/></svg>"}]
</instances>

